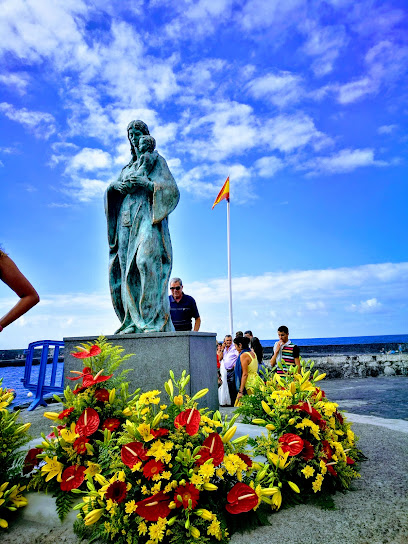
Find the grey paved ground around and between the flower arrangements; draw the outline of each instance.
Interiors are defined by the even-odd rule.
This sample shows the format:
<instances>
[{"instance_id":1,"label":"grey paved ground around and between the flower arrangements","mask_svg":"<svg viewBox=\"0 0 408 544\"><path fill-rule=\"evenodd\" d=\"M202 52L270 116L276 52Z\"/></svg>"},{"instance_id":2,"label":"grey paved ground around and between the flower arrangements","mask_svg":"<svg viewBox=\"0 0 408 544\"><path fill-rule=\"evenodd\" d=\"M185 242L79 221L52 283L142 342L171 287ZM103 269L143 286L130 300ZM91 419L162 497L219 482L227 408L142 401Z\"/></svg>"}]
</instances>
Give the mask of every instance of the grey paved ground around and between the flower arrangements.
<instances>
[{"instance_id":1,"label":"grey paved ground around and between the flower arrangements","mask_svg":"<svg viewBox=\"0 0 408 544\"><path fill-rule=\"evenodd\" d=\"M359 401L347 417L355 422L353 430L360 437L359 447L368 457L361 467L361 479L354 491L336 495L336 510L324 511L310 505L281 510L270 516L269 527L234 535L231 544L408 543L408 378L323 383L327 396L338 401L341 408L347 409L347 402ZM54 408L59 409L58 405ZM42 411L23 414L25 420L34 423L33 430L44 420ZM233 409L222 411L230 413ZM395 415L401 419L392 417ZM248 430L257 433L261 429L240 425L237 432L246 434ZM77 544L72 521L61 525L52 506L38 500L35 495L10 532L1 534L2 544Z\"/></svg>"}]
</instances>

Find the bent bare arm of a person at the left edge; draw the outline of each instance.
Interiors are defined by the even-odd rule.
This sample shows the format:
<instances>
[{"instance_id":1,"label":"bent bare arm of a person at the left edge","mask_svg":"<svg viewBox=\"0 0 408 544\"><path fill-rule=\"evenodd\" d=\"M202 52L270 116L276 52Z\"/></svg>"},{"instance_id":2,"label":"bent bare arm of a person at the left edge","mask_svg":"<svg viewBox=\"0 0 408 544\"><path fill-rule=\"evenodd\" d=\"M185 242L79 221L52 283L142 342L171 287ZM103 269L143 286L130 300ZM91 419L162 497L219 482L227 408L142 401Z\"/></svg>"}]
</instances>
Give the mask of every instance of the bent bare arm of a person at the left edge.
<instances>
[{"instance_id":1,"label":"bent bare arm of a person at the left edge","mask_svg":"<svg viewBox=\"0 0 408 544\"><path fill-rule=\"evenodd\" d=\"M0 319L0 326L4 328L35 306L40 301L40 297L7 255L0 257L0 279L20 297L17 304Z\"/></svg>"}]
</instances>

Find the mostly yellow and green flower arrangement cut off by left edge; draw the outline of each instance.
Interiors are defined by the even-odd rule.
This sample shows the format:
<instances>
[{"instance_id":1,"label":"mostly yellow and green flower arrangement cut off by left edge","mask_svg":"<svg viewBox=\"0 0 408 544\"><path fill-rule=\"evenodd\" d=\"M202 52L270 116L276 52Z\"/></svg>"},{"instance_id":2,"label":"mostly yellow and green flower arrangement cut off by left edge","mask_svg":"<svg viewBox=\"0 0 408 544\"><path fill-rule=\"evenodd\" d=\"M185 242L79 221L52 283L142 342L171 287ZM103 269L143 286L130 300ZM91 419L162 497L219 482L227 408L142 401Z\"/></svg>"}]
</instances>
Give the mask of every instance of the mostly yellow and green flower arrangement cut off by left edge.
<instances>
[{"instance_id":1,"label":"mostly yellow and green flower arrangement cut off by left edge","mask_svg":"<svg viewBox=\"0 0 408 544\"><path fill-rule=\"evenodd\" d=\"M10 412L8 407L14 394L1 387L0 379L0 528L7 529L11 512L26 506L27 499L22 495L21 472L24 453L18 448L28 442L27 431L31 423L19 421L20 412Z\"/></svg>"}]
</instances>

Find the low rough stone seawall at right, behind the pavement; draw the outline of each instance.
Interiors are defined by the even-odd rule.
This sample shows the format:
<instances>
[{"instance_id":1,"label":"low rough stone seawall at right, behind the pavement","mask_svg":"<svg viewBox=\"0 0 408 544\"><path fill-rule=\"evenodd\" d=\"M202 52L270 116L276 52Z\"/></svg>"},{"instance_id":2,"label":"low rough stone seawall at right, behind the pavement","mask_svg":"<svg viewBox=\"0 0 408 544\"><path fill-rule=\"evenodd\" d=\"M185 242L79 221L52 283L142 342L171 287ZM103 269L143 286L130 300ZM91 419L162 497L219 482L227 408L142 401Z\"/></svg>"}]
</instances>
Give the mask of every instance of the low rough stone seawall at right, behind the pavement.
<instances>
[{"instance_id":1,"label":"low rough stone seawall at right, behind the pavement","mask_svg":"<svg viewBox=\"0 0 408 544\"><path fill-rule=\"evenodd\" d=\"M308 360L308 357L304 357ZM368 376L408 376L408 354L334 355L311 357L315 368L328 378L366 378Z\"/></svg>"}]
</instances>

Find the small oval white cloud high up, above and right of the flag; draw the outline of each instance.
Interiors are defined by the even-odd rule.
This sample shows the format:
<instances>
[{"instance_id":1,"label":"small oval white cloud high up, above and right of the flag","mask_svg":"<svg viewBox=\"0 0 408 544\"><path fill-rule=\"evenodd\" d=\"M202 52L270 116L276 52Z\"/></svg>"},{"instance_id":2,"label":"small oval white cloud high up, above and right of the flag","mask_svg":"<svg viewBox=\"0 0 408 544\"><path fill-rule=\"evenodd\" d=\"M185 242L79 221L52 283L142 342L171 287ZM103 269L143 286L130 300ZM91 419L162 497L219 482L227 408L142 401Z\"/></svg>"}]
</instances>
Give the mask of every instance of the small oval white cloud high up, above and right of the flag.
<instances>
[{"instance_id":1,"label":"small oval white cloud high up, above and right of the flag","mask_svg":"<svg viewBox=\"0 0 408 544\"><path fill-rule=\"evenodd\" d=\"M302 98L301 82L301 77L290 72L268 74L253 79L248 84L248 92L255 98L265 98L278 107L285 107Z\"/></svg>"}]
</instances>

